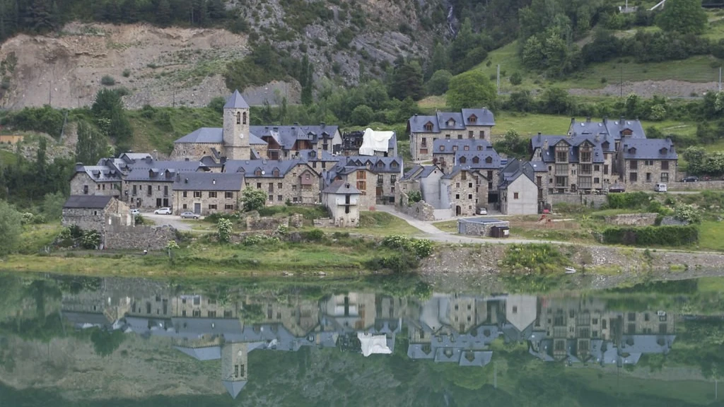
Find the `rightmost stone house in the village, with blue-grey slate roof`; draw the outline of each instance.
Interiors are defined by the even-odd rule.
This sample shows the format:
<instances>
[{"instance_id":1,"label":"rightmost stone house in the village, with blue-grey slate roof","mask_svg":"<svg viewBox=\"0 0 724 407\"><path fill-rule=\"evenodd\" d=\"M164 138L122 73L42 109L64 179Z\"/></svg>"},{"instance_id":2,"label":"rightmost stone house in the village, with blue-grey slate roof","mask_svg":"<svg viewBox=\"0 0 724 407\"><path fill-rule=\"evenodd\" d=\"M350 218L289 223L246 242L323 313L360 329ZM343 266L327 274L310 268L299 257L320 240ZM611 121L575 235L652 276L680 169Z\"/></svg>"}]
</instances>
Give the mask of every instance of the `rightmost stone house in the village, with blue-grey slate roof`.
<instances>
[{"instance_id":1,"label":"rightmost stone house in the village, with blue-grey slate roof","mask_svg":"<svg viewBox=\"0 0 724 407\"><path fill-rule=\"evenodd\" d=\"M678 154L671 139L623 138L618 172L625 183L675 182Z\"/></svg>"}]
</instances>

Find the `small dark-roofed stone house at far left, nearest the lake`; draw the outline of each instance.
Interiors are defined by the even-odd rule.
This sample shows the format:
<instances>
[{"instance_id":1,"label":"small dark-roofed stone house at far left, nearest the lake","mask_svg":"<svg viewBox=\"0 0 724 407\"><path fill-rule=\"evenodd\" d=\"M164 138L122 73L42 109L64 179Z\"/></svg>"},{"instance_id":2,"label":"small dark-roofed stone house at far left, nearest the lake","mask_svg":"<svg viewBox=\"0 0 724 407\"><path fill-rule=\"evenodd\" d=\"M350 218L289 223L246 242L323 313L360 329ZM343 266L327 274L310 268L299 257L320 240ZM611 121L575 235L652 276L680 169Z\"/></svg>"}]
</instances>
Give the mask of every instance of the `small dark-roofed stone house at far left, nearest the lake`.
<instances>
[{"instance_id":1,"label":"small dark-roofed stone house at far left, nearest the lake","mask_svg":"<svg viewBox=\"0 0 724 407\"><path fill-rule=\"evenodd\" d=\"M130 208L107 195L71 195L63 204L61 224L83 230L98 230L105 236L111 226L132 226Z\"/></svg>"}]
</instances>

